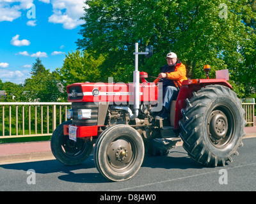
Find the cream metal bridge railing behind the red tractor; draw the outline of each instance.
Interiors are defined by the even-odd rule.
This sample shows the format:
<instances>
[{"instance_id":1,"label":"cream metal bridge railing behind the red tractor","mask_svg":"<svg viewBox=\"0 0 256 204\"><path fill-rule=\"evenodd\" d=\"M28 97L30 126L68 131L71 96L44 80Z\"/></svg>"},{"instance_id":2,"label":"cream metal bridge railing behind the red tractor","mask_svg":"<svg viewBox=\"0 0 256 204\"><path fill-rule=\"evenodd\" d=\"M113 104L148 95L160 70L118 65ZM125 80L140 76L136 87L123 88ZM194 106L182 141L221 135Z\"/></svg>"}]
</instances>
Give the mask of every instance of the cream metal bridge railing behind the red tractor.
<instances>
[{"instance_id":1,"label":"cream metal bridge railing behind the red tractor","mask_svg":"<svg viewBox=\"0 0 256 204\"><path fill-rule=\"evenodd\" d=\"M255 103L242 103L247 124L254 124ZM47 136L67 120L71 103L0 103L0 138Z\"/></svg>"}]
</instances>

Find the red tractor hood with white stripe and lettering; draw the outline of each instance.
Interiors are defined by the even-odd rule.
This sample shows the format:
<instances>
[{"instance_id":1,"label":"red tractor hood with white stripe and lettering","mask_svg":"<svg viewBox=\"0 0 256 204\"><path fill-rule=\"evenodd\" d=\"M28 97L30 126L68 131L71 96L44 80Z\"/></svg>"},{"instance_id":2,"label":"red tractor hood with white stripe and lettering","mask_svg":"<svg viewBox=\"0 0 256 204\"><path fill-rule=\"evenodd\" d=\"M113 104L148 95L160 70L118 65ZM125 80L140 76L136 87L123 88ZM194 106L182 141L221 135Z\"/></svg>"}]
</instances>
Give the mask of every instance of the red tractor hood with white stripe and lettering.
<instances>
[{"instance_id":1,"label":"red tractor hood with white stripe and lettering","mask_svg":"<svg viewBox=\"0 0 256 204\"><path fill-rule=\"evenodd\" d=\"M67 86L68 102L115 102L133 104L134 85L124 83L75 83ZM157 101L154 83L140 84L140 101Z\"/></svg>"}]
</instances>

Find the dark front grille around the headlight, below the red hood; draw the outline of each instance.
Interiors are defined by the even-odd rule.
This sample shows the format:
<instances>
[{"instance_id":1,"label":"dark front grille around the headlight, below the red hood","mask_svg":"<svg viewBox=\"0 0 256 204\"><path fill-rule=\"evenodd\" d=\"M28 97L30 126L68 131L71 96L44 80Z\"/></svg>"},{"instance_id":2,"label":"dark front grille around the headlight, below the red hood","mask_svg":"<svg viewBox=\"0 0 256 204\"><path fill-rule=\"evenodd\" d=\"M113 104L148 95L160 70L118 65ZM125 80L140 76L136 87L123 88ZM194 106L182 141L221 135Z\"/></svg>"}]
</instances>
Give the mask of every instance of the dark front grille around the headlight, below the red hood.
<instances>
[{"instance_id":1,"label":"dark front grille around the headlight, below the red hood","mask_svg":"<svg viewBox=\"0 0 256 204\"><path fill-rule=\"evenodd\" d=\"M77 110L79 109L91 109L92 116L90 119L78 119ZM72 103L73 110L73 125L77 126L97 126L98 123L98 111L99 105L93 102L84 102L84 103Z\"/></svg>"}]
</instances>

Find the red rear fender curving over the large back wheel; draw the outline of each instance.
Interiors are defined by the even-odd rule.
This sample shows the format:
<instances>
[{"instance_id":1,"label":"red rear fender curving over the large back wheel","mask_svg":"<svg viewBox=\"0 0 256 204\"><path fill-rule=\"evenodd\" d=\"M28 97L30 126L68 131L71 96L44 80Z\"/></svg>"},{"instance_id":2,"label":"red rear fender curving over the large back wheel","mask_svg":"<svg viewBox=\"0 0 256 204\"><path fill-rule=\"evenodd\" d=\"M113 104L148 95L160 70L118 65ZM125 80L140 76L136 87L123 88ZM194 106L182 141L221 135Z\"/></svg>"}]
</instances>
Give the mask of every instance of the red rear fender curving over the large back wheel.
<instances>
[{"instance_id":1,"label":"red rear fender curving over the large back wheel","mask_svg":"<svg viewBox=\"0 0 256 204\"><path fill-rule=\"evenodd\" d=\"M175 105L175 119L174 119L174 130L179 131L179 120L182 119L182 108L186 108L186 99L191 98L193 96L193 92L196 92L202 87L207 85L220 84L224 85L230 89L232 89L232 85L230 85L227 80L222 78L211 78L211 79L195 79L195 80L184 80L180 87L179 95L177 97L176 105Z\"/></svg>"}]
</instances>

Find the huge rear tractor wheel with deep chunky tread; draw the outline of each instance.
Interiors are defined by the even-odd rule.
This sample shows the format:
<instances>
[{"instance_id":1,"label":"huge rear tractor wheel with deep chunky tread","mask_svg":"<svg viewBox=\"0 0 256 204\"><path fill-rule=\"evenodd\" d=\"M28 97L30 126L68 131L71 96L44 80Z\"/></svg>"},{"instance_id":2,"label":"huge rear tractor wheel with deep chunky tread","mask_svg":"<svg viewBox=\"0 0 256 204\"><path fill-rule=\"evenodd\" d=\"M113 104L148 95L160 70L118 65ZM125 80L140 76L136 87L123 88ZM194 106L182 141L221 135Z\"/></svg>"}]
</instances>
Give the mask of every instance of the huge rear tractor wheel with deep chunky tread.
<instances>
[{"instance_id":1,"label":"huge rear tractor wheel with deep chunky tread","mask_svg":"<svg viewBox=\"0 0 256 204\"><path fill-rule=\"evenodd\" d=\"M179 125L189 156L206 166L232 162L232 156L243 145L246 124L236 93L223 85L207 85L186 103Z\"/></svg>"}]
</instances>

